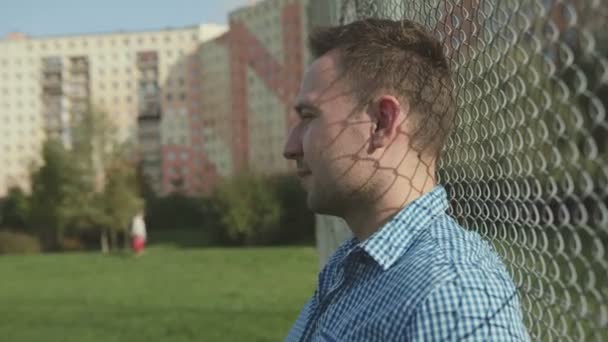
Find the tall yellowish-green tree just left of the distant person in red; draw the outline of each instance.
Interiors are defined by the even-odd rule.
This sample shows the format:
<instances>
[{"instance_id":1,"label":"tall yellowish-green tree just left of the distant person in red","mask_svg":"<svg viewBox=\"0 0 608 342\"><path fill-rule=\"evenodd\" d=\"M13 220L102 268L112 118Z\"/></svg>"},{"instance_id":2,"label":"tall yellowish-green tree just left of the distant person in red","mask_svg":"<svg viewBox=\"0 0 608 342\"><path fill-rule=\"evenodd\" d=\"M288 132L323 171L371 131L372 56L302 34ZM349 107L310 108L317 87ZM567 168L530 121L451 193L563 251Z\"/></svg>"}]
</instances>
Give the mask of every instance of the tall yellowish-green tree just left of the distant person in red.
<instances>
[{"instance_id":1,"label":"tall yellowish-green tree just left of the distant person in red","mask_svg":"<svg viewBox=\"0 0 608 342\"><path fill-rule=\"evenodd\" d=\"M102 252L117 247L119 232L141 210L130 145L118 144L107 115L92 109L74 125L73 154L89 187L83 189L77 229L99 231Z\"/></svg>"}]
</instances>

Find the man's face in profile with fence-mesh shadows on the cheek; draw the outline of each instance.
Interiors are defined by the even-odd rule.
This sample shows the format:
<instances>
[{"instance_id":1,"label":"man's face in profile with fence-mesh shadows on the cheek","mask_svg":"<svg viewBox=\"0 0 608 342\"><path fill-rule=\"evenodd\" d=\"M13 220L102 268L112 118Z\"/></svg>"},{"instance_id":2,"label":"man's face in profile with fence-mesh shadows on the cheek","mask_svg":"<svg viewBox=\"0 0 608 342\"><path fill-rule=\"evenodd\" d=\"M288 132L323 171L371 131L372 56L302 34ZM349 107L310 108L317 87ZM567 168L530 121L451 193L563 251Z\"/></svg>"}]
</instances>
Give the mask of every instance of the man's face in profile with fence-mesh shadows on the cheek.
<instances>
[{"instance_id":1,"label":"man's face in profile with fence-mesh shadows on the cheek","mask_svg":"<svg viewBox=\"0 0 608 342\"><path fill-rule=\"evenodd\" d=\"M373 163L362 160L371 120L357 106L350 82L337 63L335 54L324 55L304 75L296 99L300 119L284 152L297 163L309 208L333 215L339 215L371 186Z\"/></svg>"}]
</instances>

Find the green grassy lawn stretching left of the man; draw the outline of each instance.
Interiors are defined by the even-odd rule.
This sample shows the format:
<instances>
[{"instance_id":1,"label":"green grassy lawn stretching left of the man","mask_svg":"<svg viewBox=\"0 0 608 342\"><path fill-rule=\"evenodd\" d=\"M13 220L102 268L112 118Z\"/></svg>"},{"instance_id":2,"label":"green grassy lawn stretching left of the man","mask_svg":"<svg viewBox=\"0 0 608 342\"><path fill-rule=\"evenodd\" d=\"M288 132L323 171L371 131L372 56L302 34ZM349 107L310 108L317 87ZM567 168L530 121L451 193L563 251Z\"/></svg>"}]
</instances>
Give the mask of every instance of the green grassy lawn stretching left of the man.
<instances>
[{"instance_id":1,"label":"green grassy lawn stretching left of the man","mask_svg":"<svg viewBox=\"0 0 608 342\"><path fill-rule=\"evenodd\" d=\"M314 291L311 247L0 257L0 340L278 341Z\"/></svg>"}]
</instances>

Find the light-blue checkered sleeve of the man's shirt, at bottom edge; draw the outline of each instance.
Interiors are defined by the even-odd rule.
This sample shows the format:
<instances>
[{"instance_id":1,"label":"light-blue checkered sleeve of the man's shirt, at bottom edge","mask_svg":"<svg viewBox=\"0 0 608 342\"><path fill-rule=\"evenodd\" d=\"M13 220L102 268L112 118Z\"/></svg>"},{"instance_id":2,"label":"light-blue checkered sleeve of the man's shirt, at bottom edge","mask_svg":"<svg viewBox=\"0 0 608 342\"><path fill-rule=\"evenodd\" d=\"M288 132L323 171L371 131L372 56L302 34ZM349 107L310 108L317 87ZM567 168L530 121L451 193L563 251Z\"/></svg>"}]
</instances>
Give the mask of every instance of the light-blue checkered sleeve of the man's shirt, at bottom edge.
<instances>
[{"instance_id":1,"label":"light-blue checkered sleeve of the man's shirt, at bottom edge","mask_svg":"<svg viewBox=\"0 0 608 342\"><path fill-rule=\"evenodd\" d=\"M471 268L435 288L406 325L407 341L529 341L504 271Z\"/></svg>"}]
</instances>

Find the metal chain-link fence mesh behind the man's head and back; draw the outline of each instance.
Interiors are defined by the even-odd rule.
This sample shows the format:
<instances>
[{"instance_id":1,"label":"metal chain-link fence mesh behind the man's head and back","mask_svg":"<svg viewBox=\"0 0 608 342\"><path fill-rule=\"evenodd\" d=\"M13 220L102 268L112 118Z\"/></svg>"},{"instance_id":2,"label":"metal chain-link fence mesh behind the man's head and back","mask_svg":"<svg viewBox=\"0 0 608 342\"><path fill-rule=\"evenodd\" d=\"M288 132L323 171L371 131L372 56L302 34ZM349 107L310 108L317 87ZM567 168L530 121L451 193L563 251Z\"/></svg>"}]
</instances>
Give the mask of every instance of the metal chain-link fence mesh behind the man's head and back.
<instances>
[{"instance_id":1,"label":"metal chain-link fence mesh behind the man's head and back","mask_svg":"<svg viewBox=\"0 0 608 342\"><path fill-rule=\"evenodd\" d=\"M344 0L339 15L409 19L442 40L452 215L502 256L533 340L608 340L607 2Z\"/></svg>"}]
</instances>

